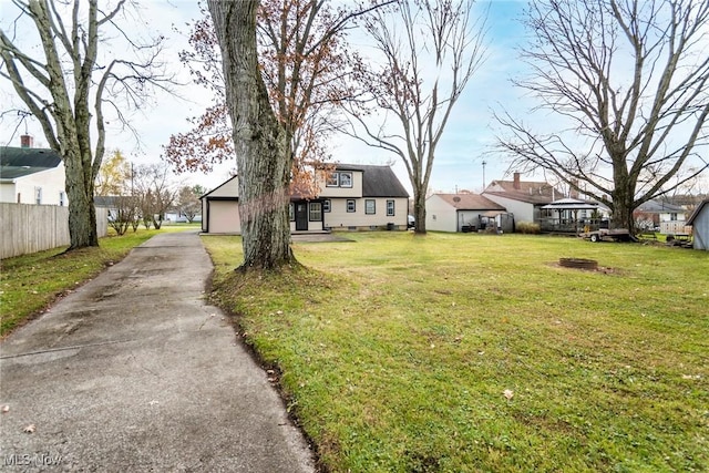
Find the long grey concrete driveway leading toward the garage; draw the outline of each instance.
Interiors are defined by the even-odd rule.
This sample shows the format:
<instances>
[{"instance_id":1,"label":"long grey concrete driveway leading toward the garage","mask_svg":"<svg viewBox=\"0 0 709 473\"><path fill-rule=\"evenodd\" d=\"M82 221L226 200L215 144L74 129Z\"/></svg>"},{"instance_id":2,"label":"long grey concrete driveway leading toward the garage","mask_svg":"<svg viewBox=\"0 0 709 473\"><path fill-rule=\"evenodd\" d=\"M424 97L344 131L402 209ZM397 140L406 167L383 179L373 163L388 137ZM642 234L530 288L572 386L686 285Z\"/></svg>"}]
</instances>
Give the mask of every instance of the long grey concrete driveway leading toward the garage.
<instances>
[{"instance_id":1,"label":"long grey concrete driveway leading toward the garage","mask_svg":"<svg viewBox=\"0 0 709 473\"><path fill-rule=\"evenodd\" d=\"M210 271L196 233L161 234L6 339L0 470L312 472Z\"/></svg>"}]
</instances>

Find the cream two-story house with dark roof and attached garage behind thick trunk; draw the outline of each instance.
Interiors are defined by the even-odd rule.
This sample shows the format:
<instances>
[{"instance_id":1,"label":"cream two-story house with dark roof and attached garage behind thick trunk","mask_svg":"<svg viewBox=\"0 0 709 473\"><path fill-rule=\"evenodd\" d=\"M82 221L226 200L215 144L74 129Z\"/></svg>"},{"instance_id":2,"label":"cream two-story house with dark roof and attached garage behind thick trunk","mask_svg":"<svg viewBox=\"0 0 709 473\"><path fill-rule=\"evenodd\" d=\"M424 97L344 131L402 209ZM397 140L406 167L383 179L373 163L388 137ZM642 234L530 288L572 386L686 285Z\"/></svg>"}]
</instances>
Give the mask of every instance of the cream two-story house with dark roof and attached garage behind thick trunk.
<instances>
[{"instance_id":1,"label":"cream two-story house with dark roof and attached garage behind thick trunk","mask_svg":"<svg viewBox=\"0 0 709 473\"><path fill-rule=\"evenodd\" d=\"M290 230L405 229L409 193L389 166L337 164L315 198L290 197ZM238 177L202 196L202 230L238 234Z\"/></svg>"}]
</instances>

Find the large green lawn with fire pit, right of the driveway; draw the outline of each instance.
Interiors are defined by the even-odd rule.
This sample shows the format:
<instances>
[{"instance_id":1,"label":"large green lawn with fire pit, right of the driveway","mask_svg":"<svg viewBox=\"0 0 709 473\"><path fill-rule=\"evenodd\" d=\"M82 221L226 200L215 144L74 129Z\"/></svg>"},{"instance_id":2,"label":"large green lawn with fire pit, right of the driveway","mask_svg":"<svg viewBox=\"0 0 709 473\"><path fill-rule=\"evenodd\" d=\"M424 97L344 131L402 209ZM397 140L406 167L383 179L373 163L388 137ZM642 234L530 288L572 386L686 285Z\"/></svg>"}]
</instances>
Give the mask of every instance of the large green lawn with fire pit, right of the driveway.
<instances>
[{"instance_id":1,"label":"large green lawn with fire pit, right of the driveway","mask_svg":"<svg viewBox=\"0 0 709 473\"><path fill-rule=\"evenodd\" d=\"M709 470L706 251L347 236L294 245L307 269L265 277L232 270L237 237L203 237L214 300L329 471Z\"/></svg>"}]
</instances>

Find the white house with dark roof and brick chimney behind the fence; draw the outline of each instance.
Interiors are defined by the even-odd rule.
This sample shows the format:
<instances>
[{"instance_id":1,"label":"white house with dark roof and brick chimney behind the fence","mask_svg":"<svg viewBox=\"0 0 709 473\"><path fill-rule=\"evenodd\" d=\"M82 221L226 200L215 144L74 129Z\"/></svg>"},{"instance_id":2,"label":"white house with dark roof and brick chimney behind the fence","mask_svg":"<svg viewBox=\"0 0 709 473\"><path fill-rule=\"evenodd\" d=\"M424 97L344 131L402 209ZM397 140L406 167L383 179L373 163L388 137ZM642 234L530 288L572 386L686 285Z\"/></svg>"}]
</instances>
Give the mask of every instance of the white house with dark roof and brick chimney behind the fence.
<instances>
[{"instance_id":1,"label":"white house with dark roof and brick chimney behind the fence","mask_svg":"<svg viewBox=\"0 0 709 473\"><path fill-rule=\"evenodd\" d=\"M0 147L0 202L68 205L61 156L31 145L31 137L23 135L22 147Z\"/></svg>"}]
</instances>

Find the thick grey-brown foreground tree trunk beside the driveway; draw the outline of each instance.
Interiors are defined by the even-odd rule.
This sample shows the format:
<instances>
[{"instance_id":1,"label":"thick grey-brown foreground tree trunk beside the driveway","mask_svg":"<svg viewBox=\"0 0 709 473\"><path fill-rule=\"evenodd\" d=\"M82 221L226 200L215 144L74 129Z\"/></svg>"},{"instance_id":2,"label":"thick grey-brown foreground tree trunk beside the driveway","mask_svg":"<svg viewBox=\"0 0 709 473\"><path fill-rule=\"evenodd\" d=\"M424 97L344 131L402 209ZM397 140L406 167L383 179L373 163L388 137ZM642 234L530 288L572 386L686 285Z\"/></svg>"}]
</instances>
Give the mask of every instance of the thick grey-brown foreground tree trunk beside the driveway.
<instances>
[{"instance_id":1,"label":"thick grey-brown foreground tree trunk beside the driveway","mask_svg":"<svg viewBox=\"0 0 709 473\"><path fill-rule=\"evenodd\" d=\"M209 0L222 48L226 102L239 173L243 269L295 261L290 250L287 135L268 101L256 49L258 0Z\"/></svg>"}]
</instances>

